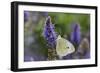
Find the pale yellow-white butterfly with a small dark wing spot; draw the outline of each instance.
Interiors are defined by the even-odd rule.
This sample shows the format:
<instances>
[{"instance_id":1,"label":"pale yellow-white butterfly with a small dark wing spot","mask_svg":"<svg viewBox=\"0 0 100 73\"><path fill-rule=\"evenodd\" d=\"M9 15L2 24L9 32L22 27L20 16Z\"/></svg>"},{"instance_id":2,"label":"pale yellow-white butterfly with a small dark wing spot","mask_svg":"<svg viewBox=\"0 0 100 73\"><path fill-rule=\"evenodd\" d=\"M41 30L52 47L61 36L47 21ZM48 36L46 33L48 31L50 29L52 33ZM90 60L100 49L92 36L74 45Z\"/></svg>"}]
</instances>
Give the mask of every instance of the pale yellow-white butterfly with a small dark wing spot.
<instances>
[{"instance_id":1,"label":"pale yellow-white butterfly with a small dark wing spot","mask_svg":"<svg viewBox=\"0 0 100 73\"><path fill-rule=\"evenodd\" d=\"M60 35L57 37L56 40L56 53L60 59L63 56L71 54L75 51L75 48L71 42L62 38Z\"/></svg>"}]
</instances>

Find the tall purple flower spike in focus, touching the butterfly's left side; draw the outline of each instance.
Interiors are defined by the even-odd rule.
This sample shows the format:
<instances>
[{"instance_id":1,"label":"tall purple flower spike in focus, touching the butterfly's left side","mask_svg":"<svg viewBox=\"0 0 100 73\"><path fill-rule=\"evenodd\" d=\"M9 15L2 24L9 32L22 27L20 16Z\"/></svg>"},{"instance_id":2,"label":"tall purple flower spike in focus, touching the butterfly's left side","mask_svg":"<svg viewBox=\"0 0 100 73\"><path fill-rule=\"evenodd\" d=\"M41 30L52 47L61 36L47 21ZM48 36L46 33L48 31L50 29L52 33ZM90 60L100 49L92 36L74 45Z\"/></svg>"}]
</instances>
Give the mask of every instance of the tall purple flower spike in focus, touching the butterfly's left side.
<instances>
[{"instance_id":1,"label":"tall purple flower spike in focus, touching the butterfly's left side","mask_svg":"<svg viewBox=\"0 0 100 73\"><path fill-rule=\"evenodd\" d=\"M46 41L48 42L48 45L51 48L55 47L56 44L56 33L54 31L54 25L51 22L51 18L50 16L47 17L46 22L45 22L45 26L44 26L44 31L43 31L43 36L46 39Z\"/></svg>"}]
</instances>

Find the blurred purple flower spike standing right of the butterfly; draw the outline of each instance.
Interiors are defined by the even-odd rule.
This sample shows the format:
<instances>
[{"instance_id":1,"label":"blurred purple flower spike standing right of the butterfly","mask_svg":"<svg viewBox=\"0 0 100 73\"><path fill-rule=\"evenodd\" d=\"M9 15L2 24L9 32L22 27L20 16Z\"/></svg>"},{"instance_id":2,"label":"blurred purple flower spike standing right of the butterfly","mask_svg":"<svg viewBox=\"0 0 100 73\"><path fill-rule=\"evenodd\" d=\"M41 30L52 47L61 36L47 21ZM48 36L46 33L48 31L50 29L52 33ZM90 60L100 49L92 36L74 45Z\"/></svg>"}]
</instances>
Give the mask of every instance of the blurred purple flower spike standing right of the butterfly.
<instances>
[{"instance_id":1,"label":"blurred purple flower spike standing right of the butterfly","mask_svg":"<svg viewBox=\"0 0 100 73\"><path fill-rule=\"evenodd\" d=\"M71 42L74 45L79 45L81 40L80 26L79 24L73 24L72 27Z\"/></svg>"}]
</instances>

